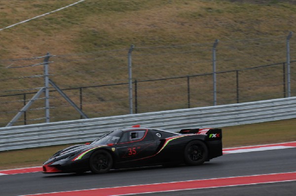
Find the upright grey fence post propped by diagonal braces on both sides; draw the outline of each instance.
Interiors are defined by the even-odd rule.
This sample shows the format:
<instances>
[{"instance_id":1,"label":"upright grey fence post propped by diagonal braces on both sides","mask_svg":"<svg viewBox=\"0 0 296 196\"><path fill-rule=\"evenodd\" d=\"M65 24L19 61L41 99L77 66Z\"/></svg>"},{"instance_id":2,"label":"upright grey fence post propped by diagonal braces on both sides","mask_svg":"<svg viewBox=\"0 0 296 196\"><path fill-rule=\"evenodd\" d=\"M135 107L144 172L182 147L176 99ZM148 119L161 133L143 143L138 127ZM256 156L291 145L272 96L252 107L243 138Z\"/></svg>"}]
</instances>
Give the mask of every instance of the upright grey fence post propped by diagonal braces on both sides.
<instances>
[{"instance_id":1,"label":"upright grey fence post propped by diagonal braces on both sides","mask_svg":"<svg viewBox=\"0 0 296 196\"><path fill-rule=\"evenodd\" d=\"M46 54L44 58L44 92L45 92L45 123L49 123L49 74L48 74L48 60L50 54Z\"/></svg>"}]
</instances>

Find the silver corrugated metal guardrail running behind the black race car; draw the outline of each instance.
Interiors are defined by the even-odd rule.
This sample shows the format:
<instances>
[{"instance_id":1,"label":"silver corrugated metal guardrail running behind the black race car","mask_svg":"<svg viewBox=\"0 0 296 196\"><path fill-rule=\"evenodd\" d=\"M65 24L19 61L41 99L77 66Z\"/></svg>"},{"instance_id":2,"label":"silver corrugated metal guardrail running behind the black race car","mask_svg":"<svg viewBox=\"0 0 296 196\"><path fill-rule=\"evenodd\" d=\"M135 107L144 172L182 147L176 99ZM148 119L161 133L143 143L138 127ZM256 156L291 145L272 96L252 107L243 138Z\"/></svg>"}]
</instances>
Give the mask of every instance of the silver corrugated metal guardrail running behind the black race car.
<instances>
[{"instance_id":1,"label":"silver corrugated metal guardrail running behind the black race car","mask_svg":"<svg viewBox=\"0 0 296 196\"><path fill-rule=\"evenodd\" d=\"M131 127L180 131L296 118L296 97L0 128L0 151L92 141Z\"/></svg>"}]
</instances>

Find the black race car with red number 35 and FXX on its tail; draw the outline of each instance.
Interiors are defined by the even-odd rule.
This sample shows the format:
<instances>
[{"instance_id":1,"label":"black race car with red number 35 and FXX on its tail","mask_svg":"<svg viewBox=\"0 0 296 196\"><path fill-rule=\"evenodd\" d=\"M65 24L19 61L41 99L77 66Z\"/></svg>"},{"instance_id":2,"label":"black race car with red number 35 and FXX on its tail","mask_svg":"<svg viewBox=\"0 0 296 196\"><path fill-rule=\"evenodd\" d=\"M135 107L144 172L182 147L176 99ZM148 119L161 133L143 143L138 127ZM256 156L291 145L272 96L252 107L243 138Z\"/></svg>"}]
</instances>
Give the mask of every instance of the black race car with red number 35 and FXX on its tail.
<instances>
[{"instance_id":1,"label":"black race car with red number 35 and FXX on its tail","mask_svg":"<svg viewBox=\"0 0 296 196\"><path fill-rule=\"evenodd\" d=\"M219 156L221 129L185 129L176 133L137 125L58 151L43 164L43 173L101 174L112 168L199 165Z\"/></svg>"}]
</instances>

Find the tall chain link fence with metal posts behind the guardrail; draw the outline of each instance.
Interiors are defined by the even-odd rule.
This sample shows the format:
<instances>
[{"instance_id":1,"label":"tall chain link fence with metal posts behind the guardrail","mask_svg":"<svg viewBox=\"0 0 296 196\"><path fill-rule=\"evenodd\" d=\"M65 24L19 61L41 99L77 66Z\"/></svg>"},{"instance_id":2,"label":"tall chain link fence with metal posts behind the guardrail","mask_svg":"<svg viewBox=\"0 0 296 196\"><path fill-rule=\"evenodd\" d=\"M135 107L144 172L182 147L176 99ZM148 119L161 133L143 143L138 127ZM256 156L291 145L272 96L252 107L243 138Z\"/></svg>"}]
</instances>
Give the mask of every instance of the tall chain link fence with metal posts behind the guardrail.
<instances>
[{"instance_id":1,"label":"tall chain link fence with metal posts behind the guardrail","mask_svg":"<svg viewBox=\"0 0 296 196\"><path fill-rule=\"evenodd\" d=\"M285 98L289 90L295 96L296 39L290 38L131 46L0 60L0 127L18 113L21 116L13 125L82 118L73 103L88 118L95 118ZM42 92L34 98L47 86L48 95ZM24 111L30 101L34 103Z\"/></svg>"}]
</instances>

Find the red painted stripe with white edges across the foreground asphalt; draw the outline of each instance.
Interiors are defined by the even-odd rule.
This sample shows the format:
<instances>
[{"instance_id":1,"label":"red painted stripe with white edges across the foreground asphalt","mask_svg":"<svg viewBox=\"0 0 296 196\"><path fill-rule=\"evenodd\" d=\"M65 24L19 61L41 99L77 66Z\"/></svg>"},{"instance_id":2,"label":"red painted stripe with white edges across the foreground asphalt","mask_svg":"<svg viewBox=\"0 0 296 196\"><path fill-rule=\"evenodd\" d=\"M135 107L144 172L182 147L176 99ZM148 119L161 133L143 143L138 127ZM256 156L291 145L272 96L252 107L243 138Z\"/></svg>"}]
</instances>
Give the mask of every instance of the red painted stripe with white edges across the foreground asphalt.
<instances>
[{"instance_id":1,"label":"red painted stripe with white edges across the foreground asphalt","mask_svg":"<svg viewBox=\"0 0 296 196\"><path fill-rule=\"evenodd\" d=\"M190 189L204 189L225 186L251 185L259 183L273 183L283 181L296 181L296 172L275 173L266 175L240 176L229 178L216 178L205 180L191 180L183 182L159 183L148 185L135 185L126 187L101 188L91 190L80 190L72 192L59 192L38 194L39 196L112 196L126 194L140 194L152 192L167 192Z\"/></svg>"}]
</instances>

